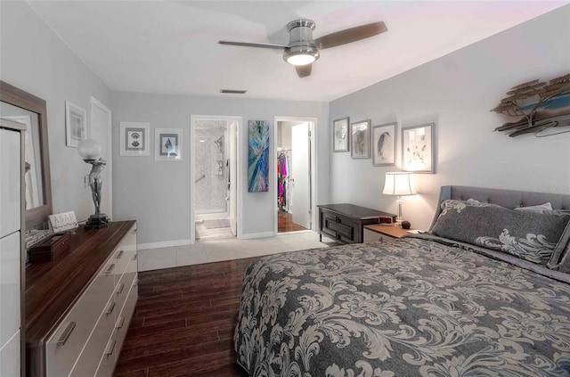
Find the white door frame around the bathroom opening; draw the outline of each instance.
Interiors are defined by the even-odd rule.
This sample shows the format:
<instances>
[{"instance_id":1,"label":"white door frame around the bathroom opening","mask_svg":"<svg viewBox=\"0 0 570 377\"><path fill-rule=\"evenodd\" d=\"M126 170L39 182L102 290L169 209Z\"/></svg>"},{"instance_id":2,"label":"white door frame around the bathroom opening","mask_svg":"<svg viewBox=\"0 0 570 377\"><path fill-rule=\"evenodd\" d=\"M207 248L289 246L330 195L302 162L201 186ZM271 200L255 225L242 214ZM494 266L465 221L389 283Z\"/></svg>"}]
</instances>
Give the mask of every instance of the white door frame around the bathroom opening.
<instances>
[{"instance_id":1,"label":"white door frame around the bathroom opening","mask_svg":"<svg viewBox=\"0 0 570 377\"><path fill-rule=\"evenodd\" d=\"M235 184L236 184L236 196L237 196L237 206L236 206L236 211L237 213L237 228L238 228L238 232L237 232L237 238L242 238L243 237L243 232L241 229L241 224L242 224L242 213L243 213L243 197L242 197L242 193L241 193L241 184L242 184L242 178L241 176L243 176L243 172L241 171L242 169L242 164L241 164L241 160L243 158L243 148L241 147L241 129L242 129L242 124L243 124L243 118L240 116L228 116L228 115L194 115L191 114L190 116L190 140L191 142L191 153L190 153L190 159L191 159L191 163L190 163L190 243L196 243L196 213L194 210L194 205L196 203L196 183L194 182L194 180L196 179L196 147L195 147L195 141L196 141L196 121L197 120L226 120L228 122L236 122L237 123L237 130L236 130L236 163L237 163L237 175L234 177L235 179Z\"/></svg>"}]
</instances>

